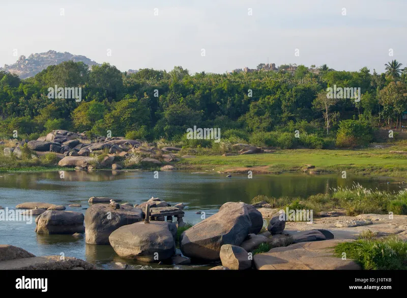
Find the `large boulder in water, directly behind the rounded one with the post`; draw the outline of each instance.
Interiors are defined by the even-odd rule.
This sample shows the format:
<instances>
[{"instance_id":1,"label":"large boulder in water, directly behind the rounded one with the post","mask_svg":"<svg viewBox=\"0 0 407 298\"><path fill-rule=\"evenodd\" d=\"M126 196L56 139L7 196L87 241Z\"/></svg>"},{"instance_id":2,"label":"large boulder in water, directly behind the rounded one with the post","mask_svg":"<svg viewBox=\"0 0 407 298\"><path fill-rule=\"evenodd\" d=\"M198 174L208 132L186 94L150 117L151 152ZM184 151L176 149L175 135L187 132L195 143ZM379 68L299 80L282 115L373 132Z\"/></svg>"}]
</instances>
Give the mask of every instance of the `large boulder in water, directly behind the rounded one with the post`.
<instances>
[{"instance_id":1,"label":"large boulder in water, directly behind the rounded one with the post","mask_svg":"<svg viewBox=\"0 0 407 298\"><path fill-rule=\"evenodd\" d=\"M142 220L140 208L121 205L114 209L106 204L94 204L86 209L85 239L90 244L109 244L110 234L122 226Z\"/></svg>"}]
</instances>

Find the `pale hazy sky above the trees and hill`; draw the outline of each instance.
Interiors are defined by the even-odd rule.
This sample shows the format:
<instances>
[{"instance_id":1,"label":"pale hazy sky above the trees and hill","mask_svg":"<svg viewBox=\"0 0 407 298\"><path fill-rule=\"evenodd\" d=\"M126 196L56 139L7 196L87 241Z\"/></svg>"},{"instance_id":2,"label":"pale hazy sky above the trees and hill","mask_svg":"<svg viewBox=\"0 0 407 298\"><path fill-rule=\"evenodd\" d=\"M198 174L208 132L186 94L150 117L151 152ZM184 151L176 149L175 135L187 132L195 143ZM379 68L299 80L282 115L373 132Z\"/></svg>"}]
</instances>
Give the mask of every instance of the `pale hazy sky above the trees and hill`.
<instances>
[{"instance_id":1,"label":"pale hazy sky above the trees and hill","mask_svg":"<svg viewBox=\"0 0 407 298\"><path fill-rule=\"evenodd\" d=\"M16 62L13 49L52 49L122 71L223 73L269 58L382 72L392 59L407 66L406 11L406 0L0 0L0 65Z\"/></svg>"}]
</instances>

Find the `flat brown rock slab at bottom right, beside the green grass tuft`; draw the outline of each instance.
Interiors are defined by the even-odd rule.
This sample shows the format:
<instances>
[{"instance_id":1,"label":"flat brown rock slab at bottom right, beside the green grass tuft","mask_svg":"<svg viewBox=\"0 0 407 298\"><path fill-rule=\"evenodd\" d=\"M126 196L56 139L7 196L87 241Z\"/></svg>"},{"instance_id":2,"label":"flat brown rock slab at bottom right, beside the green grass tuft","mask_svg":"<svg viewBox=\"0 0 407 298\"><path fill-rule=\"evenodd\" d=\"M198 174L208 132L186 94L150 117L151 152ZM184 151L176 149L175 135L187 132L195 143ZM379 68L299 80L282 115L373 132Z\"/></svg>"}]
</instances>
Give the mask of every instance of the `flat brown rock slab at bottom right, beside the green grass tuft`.
<instances>
[{"instance_id":1,"label":"flat brown rock slab at bottom right, beside the green grass tuft","mask_svg":"<svg viewBox=\"0 0 407 298\"><path fill-rule=\"evenodd\" d=\"M253 262L259 270L359 270L360 265L351 259L333 256L333 247L343 240L301 242L287 247L273 248L256 254Z\"/></svg>"}]
</instances>

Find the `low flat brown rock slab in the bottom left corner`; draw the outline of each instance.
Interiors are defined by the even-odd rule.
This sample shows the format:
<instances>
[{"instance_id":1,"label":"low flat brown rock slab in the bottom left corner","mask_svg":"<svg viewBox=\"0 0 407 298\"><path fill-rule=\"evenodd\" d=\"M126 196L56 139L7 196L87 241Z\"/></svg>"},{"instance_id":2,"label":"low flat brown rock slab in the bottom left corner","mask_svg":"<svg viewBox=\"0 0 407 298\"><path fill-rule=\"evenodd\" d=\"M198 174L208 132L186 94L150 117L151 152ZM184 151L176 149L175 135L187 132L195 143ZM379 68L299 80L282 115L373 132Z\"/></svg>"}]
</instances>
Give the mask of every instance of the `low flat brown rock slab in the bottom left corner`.
<instances>
[{"instance_id":1,"label":"low flat brown rock slab in the bottom left corner","mask_svg":"<svg viewBox=\"0 0 407 298\"><path fill-rule=\"evenodd\" d=\"M94 264L80 259L61 256L20 258L0 262L0 270L70 270L80 267L85 270L97 269Z\"/></svg>"}]
</instances>

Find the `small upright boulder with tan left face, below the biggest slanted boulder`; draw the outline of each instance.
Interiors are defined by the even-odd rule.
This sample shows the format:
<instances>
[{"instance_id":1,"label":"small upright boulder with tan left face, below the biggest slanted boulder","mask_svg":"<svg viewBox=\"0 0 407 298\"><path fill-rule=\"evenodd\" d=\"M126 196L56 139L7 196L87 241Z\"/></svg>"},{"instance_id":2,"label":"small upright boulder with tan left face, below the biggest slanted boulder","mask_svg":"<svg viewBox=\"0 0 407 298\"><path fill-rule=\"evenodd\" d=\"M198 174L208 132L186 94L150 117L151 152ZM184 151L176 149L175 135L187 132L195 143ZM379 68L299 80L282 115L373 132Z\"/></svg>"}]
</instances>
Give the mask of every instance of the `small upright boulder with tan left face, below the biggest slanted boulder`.
<instances>
[{"instance_id":1,"label":"small upright boulder with tan left face, below the biggest slanted boulder","mask_svg":"<svg viewBox=\"0 0 407 298\"><path fill-rule=\"evenodd\" d=\"M251 267L251 258L244 248L225 244L220 248L222 266L230 270L244 270Z\"/></svg>"}]
</instances>

